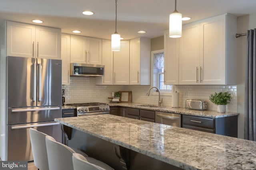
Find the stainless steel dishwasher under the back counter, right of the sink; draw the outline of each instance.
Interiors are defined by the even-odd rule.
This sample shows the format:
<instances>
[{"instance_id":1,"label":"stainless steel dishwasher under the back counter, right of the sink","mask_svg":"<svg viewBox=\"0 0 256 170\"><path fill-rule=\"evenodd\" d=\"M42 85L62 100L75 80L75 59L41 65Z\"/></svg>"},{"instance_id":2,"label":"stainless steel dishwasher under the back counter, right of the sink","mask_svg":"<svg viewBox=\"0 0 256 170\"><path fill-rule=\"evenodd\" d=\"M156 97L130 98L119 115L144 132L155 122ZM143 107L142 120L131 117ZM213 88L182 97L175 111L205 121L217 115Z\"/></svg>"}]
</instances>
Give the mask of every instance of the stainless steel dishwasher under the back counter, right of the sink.
<instances>
[{"instance_id":1,"label":"stainless steel dishwasher under the back counter, right of the sink","mask_svg":"<svg viewBox=\"0 0 256 170\"><path fill-rule=\"evenodd\" d=\"M176 113L155 112L156 123L181 127L181 115Z\"/></svg>"}]
</instances>

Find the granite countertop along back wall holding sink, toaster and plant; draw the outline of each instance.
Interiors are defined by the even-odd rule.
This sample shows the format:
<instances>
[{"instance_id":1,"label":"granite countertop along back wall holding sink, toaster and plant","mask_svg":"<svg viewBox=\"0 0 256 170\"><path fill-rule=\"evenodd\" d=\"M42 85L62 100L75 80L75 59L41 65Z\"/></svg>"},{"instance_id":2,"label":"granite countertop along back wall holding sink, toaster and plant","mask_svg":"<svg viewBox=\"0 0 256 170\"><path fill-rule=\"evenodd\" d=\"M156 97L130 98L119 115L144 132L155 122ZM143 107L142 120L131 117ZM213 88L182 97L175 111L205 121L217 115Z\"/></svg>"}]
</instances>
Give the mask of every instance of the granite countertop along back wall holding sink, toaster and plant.
<instances>
[{"instance_id":1,"label":"granite countertop along back wall holding sink, toaster and plant","mask_svg":"<svg viewBox=\"0 0 256 170\"><path fill-rule=\"evenodd\" d=\"M228 117L228 116L235 116L239 115L239 113L235 112L226 112L226 113L218 113L217 111L212 110L192 110L192 109L185 109L185 108L172 108L170 106L167 107L142 107L138 105L145 105L140 103L109 103L110 106L123 106L123 107L132 107L138 109L148 109L154 111L164 111L164 112L171 112L171 113L178 113L184 115L193 115L193 116L201 116L201 117L209 117L209 118L220 118L220 117Z\"/></svg>"}]
</instances>

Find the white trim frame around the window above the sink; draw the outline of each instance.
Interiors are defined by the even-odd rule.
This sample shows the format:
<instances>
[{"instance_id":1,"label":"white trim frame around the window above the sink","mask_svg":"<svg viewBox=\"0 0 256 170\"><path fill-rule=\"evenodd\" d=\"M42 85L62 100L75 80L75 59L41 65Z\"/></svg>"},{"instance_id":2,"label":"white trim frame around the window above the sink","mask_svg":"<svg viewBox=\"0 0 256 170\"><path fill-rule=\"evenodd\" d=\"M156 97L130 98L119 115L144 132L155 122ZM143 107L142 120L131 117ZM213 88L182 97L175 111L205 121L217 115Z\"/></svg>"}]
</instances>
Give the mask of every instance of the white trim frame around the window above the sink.
<instances>
[{"instance_id":1,"label":"white trim frame around the window above the sink","mask_svg":"<svg viewBox=\"0 0 256 170\"><path fill-rule=\"evenodd\" d=\"M151 67L151 87L154 86L154 55L157 54L157 53L164 53L164 49L151 51L151 63L150 63L150 67ZM159 78L158 78L157 83L159 83ZM174 92L174 85L172 85L172 90L160 90L160 92L161 92L161 95L163 95L163 96L172 96L172 92ZM158 92L156 92L154 90L151 94L152 95L158 95Z\"/></svg>"}]
</instances>

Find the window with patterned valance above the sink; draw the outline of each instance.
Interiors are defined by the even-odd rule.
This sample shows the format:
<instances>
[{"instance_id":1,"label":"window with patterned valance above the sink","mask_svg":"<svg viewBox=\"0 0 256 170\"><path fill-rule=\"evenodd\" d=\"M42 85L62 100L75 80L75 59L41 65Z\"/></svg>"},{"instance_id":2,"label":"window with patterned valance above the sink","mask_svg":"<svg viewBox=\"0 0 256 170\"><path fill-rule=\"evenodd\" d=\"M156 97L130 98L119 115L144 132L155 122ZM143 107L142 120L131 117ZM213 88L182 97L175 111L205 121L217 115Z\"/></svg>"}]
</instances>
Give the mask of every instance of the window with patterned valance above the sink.
<instances>
[{"instance_id":1,"label":"window with patterned valance above the sink","mask_svg":"<svg viewBox=\"0 0 256 170\"><path fill-rule=\"evenodd\" d=\"M163 50L152 51L152 84L161 92L172 92L172 85L164 84L164 52Z\"/></svg>"}]
</instances>

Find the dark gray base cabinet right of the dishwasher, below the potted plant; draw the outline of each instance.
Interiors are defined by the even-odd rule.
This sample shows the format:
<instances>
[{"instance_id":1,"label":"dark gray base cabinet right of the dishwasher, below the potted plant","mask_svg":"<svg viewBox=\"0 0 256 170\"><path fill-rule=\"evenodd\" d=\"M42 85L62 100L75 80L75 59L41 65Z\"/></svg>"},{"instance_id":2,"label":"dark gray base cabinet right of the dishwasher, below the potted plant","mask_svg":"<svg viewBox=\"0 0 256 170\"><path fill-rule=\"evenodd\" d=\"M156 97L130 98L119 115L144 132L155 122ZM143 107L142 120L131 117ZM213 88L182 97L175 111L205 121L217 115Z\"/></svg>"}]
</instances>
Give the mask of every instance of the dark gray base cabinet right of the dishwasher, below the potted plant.
<instances>
[{"instance_id":1,"label":"dark gray base cabinet right of the dishwasher, below the potted plant","mask_svg":"<svg viewBox=\"0 0 256 170\"><path fill-rule=\"evenodd\" d=\"M220 117L216 119L182 115L182 127L218 135L237 137L238 116Z\"/></svg>"}]
</instances>

